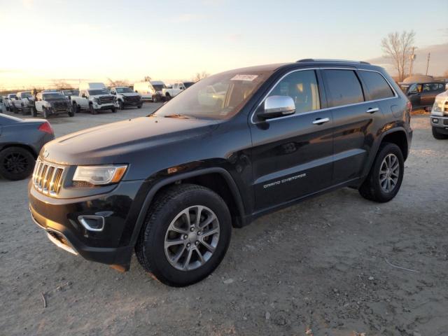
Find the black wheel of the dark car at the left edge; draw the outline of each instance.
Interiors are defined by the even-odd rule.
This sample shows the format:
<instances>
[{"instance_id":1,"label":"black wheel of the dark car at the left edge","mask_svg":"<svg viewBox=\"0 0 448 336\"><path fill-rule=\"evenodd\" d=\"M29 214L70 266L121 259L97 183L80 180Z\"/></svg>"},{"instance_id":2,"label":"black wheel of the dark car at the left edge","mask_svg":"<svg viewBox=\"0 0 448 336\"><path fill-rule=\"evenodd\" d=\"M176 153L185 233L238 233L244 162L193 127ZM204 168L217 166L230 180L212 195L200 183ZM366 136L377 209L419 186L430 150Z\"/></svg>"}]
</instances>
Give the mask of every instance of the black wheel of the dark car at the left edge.
<instances>
[{"instance_id":1,"label":"black wheel of the dark car at the left edge","mask_svg":"<svg viewBox=\"0 0 448 336\"><path fill-rule=\"evenodd\" d=\"M33 155L25 148L8 147L0 152L0 175L11 181L26 179L35 163Z\"/></svg>"}]
</instances>

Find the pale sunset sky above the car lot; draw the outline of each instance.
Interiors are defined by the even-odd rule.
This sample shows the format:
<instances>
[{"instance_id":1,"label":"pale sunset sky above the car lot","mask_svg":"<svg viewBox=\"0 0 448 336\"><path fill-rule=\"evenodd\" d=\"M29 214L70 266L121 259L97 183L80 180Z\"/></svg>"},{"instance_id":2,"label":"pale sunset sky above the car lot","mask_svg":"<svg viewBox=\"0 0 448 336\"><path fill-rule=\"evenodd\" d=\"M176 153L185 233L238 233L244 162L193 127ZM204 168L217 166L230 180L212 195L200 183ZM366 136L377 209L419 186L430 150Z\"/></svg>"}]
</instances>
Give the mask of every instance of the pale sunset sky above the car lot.
<instances>
[{"instance_id":1,"label":"pale sunset sky above the car lot","mask_svg":"<svg viewBox=\"0 0 448 336\"><path fill-rule=\"evenodd\" d=\"M190 79L302 58L375 59L413 29L448 47L448 1L0 0L0 89ZM440 75L448 69L433 69ZM391 71L393 72L393 71Z\"/></svg>"}]
</instances>

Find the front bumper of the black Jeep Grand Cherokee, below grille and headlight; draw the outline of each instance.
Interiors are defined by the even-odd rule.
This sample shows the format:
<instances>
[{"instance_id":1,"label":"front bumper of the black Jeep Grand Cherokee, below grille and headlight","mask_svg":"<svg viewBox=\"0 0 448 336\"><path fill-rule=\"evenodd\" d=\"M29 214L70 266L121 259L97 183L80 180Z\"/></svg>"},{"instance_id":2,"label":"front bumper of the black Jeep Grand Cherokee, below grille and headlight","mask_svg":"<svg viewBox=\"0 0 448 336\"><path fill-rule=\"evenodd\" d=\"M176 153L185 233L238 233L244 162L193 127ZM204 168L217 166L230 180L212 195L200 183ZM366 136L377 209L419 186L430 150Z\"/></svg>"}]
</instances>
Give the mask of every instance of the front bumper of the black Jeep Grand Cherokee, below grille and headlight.
<instances>
[{"instance_id":1,"label":"front bumper of the black Jeep Grand Cherokee, below grille and headlight","mask_svg":"<svg viewBox=\"0 0 448 336\"><path fill-rule=\"evenodd\" d=\"M29 211L34 223L58 247L87 260L128 269L134 246L122 237L127 225L134 228L130 214L140 186L141 181L124 181L110 193L57 199L39 193L30 181ZM79 216L103 216L104 230L87 230Z\"/></svg>"}]
</instances>

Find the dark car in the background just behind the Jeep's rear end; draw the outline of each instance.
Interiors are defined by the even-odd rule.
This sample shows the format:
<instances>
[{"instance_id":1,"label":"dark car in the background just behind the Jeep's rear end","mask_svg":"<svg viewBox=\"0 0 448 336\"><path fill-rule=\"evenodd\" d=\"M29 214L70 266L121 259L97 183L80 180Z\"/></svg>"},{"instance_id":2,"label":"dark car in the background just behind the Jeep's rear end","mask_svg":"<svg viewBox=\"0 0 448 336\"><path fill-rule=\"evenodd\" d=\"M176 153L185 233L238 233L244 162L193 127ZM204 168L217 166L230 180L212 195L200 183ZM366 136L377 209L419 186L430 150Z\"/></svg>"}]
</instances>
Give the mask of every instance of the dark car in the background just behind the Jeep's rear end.
<instances>
[{"instance_id":1,"label":"dark car in the background just behind the Jeep's rear end","mask_svg":"<svg viewBox=\"0 0 448 336\"><path fill-rule=\"evenodd\" d=\"M434 83L407 83L400 84L412 104L412 109L430 109L437 94L444 92L445 84Z\"/></svg>"}]
</instances>

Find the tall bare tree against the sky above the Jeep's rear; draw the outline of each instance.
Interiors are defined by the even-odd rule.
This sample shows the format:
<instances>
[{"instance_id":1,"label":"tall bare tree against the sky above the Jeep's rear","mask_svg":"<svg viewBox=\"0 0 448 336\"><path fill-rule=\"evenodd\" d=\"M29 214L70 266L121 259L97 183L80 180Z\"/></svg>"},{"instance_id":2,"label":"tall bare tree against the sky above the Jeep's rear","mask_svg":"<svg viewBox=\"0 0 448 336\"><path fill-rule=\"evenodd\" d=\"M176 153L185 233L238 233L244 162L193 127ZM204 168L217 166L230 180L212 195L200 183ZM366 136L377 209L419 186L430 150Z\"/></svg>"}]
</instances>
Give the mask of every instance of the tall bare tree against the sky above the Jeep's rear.
<instances>
[{"instance_id":1,"label":"tall bare tree against the sky above the Jeep's rear","mask_svg":"<svg viewBox=\"0 0 448 336\"><path fill-rule=\"evenodd\" d=\"M412 45L414 45L415 32L398 31L389 33L387 37L381 40L381 48L393 60L393 66L398 71L398 80L402 81L405 78L405 71L409 63L409 55L411 55Z\"/></svg>"}]
</instances>

